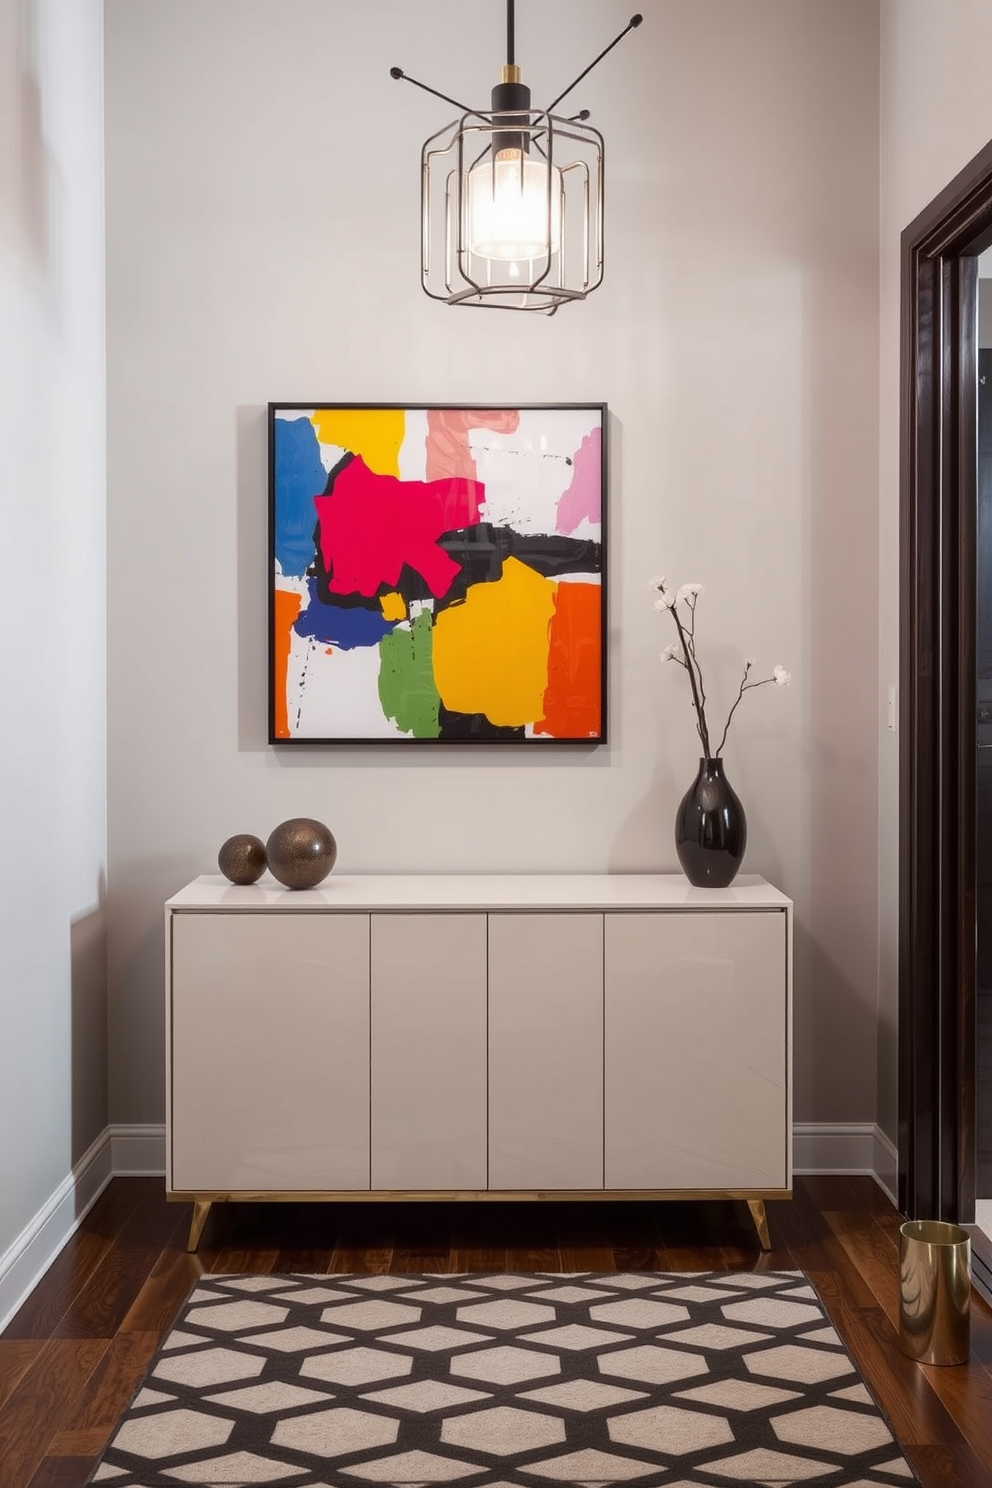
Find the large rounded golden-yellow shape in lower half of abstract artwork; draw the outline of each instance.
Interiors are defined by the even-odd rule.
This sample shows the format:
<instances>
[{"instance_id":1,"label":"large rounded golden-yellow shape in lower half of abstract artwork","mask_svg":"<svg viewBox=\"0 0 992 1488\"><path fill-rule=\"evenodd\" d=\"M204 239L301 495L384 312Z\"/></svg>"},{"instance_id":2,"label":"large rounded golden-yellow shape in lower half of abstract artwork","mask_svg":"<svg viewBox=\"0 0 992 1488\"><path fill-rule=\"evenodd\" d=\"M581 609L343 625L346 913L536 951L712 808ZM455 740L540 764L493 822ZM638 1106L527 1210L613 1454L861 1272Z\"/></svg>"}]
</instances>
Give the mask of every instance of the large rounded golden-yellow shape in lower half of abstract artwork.
<instances>
[{"instance_id":1,"label":"large rounded golden-yellow shape in lower half of abstract artwork","mask_svg":"<svg viewBox=\"0 0 992 1488\"><path fill-rule=\"evenodd\" d=\"M549 626L558 585L518 558L495 583L473 583L464 604L434 620L434 682L452 713L485 713L500 728L543 716Z\"/></svg>"}]
</instances>

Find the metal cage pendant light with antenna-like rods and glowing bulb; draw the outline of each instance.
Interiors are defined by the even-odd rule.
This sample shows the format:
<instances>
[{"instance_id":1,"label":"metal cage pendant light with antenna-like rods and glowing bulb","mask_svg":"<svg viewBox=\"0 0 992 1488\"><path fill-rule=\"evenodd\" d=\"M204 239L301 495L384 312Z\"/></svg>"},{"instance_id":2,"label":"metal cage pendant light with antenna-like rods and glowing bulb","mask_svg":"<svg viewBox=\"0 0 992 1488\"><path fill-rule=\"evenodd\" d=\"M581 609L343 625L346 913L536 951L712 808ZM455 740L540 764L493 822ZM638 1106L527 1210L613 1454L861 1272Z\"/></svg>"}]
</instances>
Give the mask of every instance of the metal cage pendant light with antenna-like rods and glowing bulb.
<instances>
[{"instance_id":1,"label":"metal cage pendant light with antenna-like rods and glowing bulb","mask_svg":"<svg viewBox=\"0 0 992 1488\"><path fill-rule=\"evenodd\" d=\"M506 7L507 61L489 109L468 109L409 77L396 79L443 98L461 118L421 150L421 283L448 305L529 310L553 315L602 283L602 135L589 110L555 109L642 21L634 15L547 109L515 61L515 0Z\"/></svg>"}]
</instances>

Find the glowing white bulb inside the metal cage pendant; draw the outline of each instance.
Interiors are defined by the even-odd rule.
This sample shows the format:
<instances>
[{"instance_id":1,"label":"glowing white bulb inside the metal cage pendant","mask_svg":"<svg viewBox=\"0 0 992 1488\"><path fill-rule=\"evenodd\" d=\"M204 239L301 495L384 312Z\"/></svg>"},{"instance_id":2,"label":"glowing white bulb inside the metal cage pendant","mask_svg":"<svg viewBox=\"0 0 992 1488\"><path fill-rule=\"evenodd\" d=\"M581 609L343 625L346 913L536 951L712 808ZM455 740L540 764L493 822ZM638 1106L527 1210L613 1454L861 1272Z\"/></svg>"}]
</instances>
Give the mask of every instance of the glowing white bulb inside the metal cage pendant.
<instances>
[{"instance_id":1,"label":"glowing white bulb inside the metal cage pendant","mask_svg":"<svg viewBox=\"0 0 992 1488\"><path fill-rule=\"evenodd\" d=\"M549 202L547 171L547 161L500 150L468 173L470 253L510 263L558 253L562 179L558 167L550 167Z\"/></svg>"}]
</instances>

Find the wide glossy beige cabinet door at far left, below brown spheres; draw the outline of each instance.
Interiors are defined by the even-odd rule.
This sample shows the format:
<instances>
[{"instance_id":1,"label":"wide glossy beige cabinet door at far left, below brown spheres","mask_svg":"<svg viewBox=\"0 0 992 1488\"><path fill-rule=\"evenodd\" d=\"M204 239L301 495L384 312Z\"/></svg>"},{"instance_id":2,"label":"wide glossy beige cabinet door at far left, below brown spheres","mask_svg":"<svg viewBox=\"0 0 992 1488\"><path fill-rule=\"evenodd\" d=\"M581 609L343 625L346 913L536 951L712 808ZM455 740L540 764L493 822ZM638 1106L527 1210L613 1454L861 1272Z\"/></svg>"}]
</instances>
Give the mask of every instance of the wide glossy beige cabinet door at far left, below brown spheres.
<instances>
[{"instance_id":1,"label":"wide glossy beige cabinet door at far left, below brown spheres","mask_svg":"<svg viewBox=\"0 0 992 1488\"><path fill-rule=\"evenodd\" d=\"M175 914L177 1192L369 1187L369 915Z\"/></svg>"}]
</instances>

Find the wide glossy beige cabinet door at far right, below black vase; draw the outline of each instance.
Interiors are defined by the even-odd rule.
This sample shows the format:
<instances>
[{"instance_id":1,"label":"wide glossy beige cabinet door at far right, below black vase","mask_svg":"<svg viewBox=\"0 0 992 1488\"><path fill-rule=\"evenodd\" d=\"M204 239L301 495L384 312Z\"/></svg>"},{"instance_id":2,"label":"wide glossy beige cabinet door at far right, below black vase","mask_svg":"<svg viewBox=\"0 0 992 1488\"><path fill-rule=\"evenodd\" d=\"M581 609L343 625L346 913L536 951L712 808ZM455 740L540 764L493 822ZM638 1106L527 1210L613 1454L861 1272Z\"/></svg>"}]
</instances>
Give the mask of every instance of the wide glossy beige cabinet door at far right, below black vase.
<instances>
[{"instance_id":1,"label":"wide glossy beige cabinet door at far right, below black vase","mask_svg":"<svg viewBox=\"0 0 992 1488\"><path fill-rule=\"evenodd\" d=\"M788 1181L782 911L605 917L608 1189Z\"/></svg>"}]
</instances>

